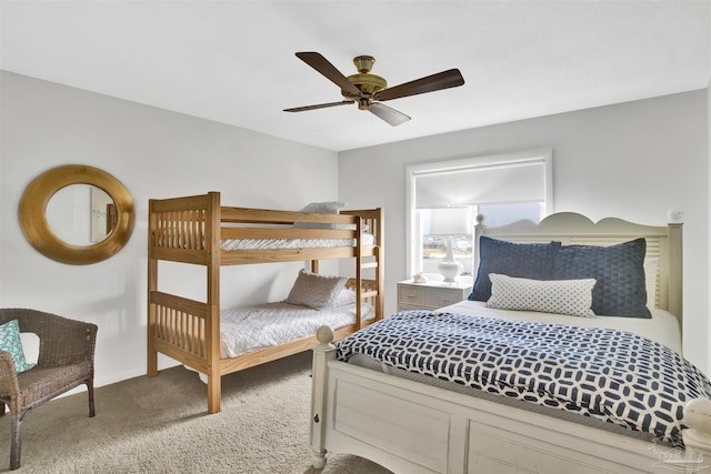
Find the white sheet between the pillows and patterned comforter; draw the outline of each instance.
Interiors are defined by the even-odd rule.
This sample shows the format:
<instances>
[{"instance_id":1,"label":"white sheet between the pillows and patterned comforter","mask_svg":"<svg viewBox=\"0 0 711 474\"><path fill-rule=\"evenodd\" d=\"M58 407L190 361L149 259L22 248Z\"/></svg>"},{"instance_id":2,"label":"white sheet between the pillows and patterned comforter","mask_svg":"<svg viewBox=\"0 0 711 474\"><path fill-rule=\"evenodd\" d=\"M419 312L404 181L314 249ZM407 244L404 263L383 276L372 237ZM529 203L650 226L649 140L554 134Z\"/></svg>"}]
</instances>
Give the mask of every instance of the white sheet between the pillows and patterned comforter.
<instances>
[{"instance_id":1,"label":"white sheet between the pillows and patterned comforter","mask_svg":"<svg viewBox=\"0 0 711 474\"><path fill-rule=\"evenodd\" d=\"M587 327L605 327L632 332L657 341L668 347L681 352L681 330L677 317L660 309L651 310L652 319L638 317L577 317L564 314L537 313L529 311L494 310L487 307L483 301L461 301L450 306L440 307L440 312L457 314L502 317L509 320L540 321L552 324L571 324Z\"/></svg>"}]
</instances>

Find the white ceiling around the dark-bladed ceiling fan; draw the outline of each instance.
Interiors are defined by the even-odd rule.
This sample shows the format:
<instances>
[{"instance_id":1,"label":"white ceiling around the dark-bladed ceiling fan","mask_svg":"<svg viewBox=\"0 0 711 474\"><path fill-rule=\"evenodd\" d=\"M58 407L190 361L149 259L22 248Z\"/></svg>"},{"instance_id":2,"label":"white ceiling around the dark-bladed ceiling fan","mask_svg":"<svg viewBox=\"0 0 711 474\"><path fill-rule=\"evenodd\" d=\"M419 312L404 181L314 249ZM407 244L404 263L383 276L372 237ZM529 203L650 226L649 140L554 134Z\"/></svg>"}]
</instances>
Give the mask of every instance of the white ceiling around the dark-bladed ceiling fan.
<instances>
[{"instance_id":1,"label":"white ceiling around the dark-bladed ceiling fan","mask_svg":"<svg viewBox=\"0 0 711 474\"><path fill-rule=\"evenodd\" d=\"M8 1L0 68L342 151L703 89L711 0ZM388 101L390 127L344 105L294 57L390 85L459 68L460 88Z\"/></svg>"}]
</instances>

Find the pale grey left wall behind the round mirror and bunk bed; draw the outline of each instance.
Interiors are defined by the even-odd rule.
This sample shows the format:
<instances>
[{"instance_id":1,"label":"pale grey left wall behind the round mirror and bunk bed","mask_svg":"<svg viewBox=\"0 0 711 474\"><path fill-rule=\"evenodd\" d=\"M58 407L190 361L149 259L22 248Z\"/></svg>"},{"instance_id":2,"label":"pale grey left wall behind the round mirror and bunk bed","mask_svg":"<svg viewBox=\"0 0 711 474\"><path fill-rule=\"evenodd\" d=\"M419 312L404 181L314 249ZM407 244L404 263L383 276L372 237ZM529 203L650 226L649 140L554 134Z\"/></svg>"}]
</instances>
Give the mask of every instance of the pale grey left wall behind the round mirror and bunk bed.
<instances>
[{"instance_id":1,"label":"pale grey left wall behind the round mirror and bunk bed","mask_svg":"<svg viewBox=\"0 0 711 474\"><path fill-rule=\"evenodd\" d=\"M334 152L8 72L0 81L0 305L98 324L97 385L146 373L149 198L214 190L227 205L296 210L338 196ZM128 245L93 265L44 258L18 225L24 186L50 168L72 163L113 174L136 204ZM226 269L222 301L283 299L300 268ZM162 289L204 297L201 268L166 264L161 272Z\"/></svg>"}]
</instances>

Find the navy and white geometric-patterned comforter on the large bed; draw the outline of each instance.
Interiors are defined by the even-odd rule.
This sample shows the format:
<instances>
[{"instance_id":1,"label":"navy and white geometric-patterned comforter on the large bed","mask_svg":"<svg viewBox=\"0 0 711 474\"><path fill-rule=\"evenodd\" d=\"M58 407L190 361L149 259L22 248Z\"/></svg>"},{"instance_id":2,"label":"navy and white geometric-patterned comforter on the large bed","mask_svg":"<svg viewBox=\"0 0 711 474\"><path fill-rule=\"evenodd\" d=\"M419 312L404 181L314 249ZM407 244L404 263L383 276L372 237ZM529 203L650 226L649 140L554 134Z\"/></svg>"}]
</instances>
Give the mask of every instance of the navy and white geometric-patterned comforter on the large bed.
<instances>
[{"instance_id":1,"label":"navy and white geometric-patterned comforter on the large bed","mask_svg":"<svg viewBox=\"0 0 711 474\"><path fill-rule=\"evenodd\" d=\"M451 313L394 314L337 343L393 367L597 417L681 443L683 406L711 382L683 356L610 329Z\"/></svg>"}]
</instances>

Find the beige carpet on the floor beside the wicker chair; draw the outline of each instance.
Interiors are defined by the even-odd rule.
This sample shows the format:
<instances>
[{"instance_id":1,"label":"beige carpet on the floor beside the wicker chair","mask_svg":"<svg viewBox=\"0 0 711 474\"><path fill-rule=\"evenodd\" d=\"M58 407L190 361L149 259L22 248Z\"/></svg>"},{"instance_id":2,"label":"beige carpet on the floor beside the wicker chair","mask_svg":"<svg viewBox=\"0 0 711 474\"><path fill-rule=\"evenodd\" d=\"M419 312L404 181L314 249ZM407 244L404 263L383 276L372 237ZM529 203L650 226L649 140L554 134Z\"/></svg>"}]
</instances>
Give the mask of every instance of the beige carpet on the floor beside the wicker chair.
<instances>
[{"instance_id":1,"label":"beige carpet on the floor beside the wicker chair","mask_svg":"<svg viewBox=\"0 0 711 474\"><path fill-rule=\"evenodd\" d=\"M18 473L387 474L367 460L333 454L311 466L311 353L222 377L222 411L207 414L207 387L173 367L49 402L22 423ZM10 455L9 416L0 417L0 472Z\"/></svg>"}]
</instances>

